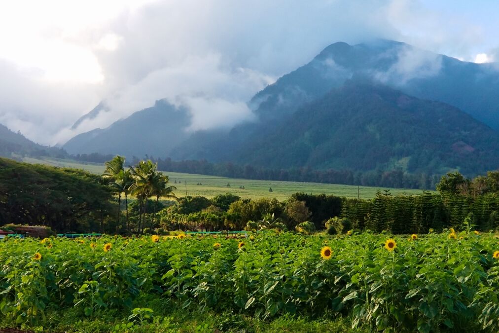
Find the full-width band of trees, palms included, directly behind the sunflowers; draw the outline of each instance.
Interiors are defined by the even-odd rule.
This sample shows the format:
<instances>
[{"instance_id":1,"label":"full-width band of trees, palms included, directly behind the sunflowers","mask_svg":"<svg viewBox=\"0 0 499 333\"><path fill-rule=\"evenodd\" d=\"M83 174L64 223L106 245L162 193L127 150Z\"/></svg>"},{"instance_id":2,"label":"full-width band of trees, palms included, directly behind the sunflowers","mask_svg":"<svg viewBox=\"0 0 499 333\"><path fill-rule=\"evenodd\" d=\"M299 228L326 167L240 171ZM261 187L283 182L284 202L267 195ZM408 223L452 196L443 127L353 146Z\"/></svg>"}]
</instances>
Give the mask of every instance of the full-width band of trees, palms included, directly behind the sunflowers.
<instances>
[{"instance_id":1,"label":"full-width band of trees, palms included, directly behind the sunflowers","mask_svg":"<svg viewBox=\"0 0 499 333\"><path fill-rule=\"evenodd\" d=\"M279 202L227 193L208 199L177 198L159 164L126 166L115 156L102 175L0 159L0 225L43 225L57 232L167 233L176 230L312 231L331 225L395 234L460 228L499 228L499 171L467 179L443 176L438 192L369 200L295 193ZM161 200L163 199L163 200ZM331 229L331 228L330 228Z\"/></svg>"}]
</instances>

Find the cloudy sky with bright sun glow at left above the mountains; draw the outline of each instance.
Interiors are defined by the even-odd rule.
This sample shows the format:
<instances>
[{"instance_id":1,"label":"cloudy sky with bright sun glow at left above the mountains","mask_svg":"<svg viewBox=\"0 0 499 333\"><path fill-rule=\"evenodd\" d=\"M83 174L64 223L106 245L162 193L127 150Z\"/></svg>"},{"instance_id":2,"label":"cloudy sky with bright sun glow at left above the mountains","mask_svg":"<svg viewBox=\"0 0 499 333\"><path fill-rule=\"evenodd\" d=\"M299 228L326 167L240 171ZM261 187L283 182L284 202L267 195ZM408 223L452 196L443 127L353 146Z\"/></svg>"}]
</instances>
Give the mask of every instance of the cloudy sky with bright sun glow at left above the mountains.
<instances>
[{"instance_id":1,"label":"cloudy sky with bright sun glow at left above the mountains","mask_svg":"<svg viewBox=\"0 0 499 333\"><path fill-rule=\"evenodd\" d=\"M250 119L247 101L336 41L404 41L499 61L499 1L0 2L0 123L61 144L166 98L190 130ZM72 124L104 101L108 112Z\"/></svg>"}]
</instances>

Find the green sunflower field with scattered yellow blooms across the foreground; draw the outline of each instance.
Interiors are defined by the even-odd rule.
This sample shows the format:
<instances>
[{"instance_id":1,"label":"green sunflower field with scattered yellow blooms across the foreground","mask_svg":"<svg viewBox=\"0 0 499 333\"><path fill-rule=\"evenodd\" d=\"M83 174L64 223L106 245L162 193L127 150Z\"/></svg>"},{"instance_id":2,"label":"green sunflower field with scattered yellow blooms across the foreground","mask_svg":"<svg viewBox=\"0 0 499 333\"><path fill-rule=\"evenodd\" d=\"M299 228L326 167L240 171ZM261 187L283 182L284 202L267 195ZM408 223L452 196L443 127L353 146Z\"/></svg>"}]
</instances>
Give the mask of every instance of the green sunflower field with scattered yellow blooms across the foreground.
<instances>
[{"instance_id":1,"label":"green sunflower field with scattered yellow blooms across the foreground","mask_svg":"<svg viewBox=\"0 0 499 333\"><path fill-rule=\"evenodd\" d=\"M0 311L19 326L42 325L49 311L92 318L159 299L262 319L326 314L385 332L497 332L498 298L492 233L0 242Z\"/></svg>"}]
</instances>

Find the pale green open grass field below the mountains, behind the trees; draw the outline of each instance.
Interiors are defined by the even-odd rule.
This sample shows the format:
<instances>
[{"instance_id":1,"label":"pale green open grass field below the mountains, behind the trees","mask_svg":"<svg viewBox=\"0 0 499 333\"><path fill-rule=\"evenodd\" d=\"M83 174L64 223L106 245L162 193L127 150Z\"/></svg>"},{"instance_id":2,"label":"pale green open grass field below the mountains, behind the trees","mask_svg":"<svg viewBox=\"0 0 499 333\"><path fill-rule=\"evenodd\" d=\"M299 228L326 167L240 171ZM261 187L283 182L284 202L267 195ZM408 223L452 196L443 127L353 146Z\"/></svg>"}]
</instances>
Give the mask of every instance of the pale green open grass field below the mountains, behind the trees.
<instances>
[{"instance_id":1,"label":"pale green open grass field below the mountains, behind the trees","mask_svg":"<svg viewBox=\"0 0 499 333\"><path fill-rule=\"evenodd\" d=\"M81 163L70 160L59 159L34 159L24 158L28 163L49 164L58 167L70 167L77 169L84 169L93 173L102 173L104 166L95 163ZM338 184L320 184L320 183L305 183L305 182L281 182L281 181L267 181L267 180L250 180L227 178L207 175L196 175L178 172L169 172L163 170L166 175L170 177L172 185L177 186L175 194L178 197L186 195L201 195L207 198L212 198L219 194L233 193L242 198L262 198L271 197L280 201L287 199L291 194L296 192L304 192L311 194L333 194L340 197L356 198L357 186L352 185L338 185ZM175 183L177 182L177 183ZM201 183L202 185L197 185ZM230 183L230 187L227 185ZM244 186L241 189L240 186ZM187 189L186 189L187 188ZM272 188L272 192L269 192ZM361 199L369 199L376 195L377 190L386 190L380 187L366 187L360 186L359 197ZM389 189L392 194L420 194L421 190L413 189Z\"/></svg>"}]
</instances>

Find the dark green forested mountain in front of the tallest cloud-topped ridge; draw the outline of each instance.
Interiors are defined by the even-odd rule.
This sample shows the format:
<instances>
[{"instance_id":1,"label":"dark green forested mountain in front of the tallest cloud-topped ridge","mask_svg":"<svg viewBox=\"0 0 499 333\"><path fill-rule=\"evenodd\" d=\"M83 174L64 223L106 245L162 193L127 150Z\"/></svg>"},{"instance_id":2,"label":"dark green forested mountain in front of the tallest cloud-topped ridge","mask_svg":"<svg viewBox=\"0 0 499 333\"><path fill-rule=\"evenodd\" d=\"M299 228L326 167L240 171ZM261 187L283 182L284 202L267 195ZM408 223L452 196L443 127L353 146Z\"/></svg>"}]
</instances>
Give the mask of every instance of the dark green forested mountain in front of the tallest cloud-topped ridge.
<instances>
[{"instance_id":1,"label":"dark green forested mountain in front of the tallest cloud-topped ridge","mask_svg":"<svg viewBox=\"0 0 499 333\"><path fill-rule=\"evenodd\" d=\"M400 167L428 174L476 174L499 165L497 131L446 103L364 81L347 81L253 133L230 160L269 168Z\"/></svg>"}]
</instances>

